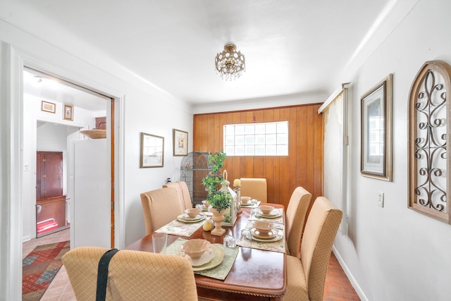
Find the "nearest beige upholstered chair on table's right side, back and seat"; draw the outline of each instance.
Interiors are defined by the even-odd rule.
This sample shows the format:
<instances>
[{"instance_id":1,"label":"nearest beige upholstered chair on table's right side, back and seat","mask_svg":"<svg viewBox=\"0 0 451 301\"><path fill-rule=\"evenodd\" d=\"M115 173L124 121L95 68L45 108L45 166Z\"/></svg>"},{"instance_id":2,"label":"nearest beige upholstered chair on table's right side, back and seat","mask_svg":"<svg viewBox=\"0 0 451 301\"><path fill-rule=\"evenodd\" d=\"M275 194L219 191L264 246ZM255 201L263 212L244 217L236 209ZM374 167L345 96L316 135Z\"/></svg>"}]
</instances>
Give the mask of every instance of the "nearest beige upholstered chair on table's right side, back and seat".
<instances>
[{"instance_id":1,"label":"nearest beige upholstered chair on table's right side, back and seat","mask_svg":"<svg viewBox=\"0 0 451 301\"><path fill-rule=\"evenodd\" d=\"M326 197L316 198L302 236L301 258L287 256L287 294L283 300L323 300L324 281L342 211Z\"/></svg>"}]
</instances>

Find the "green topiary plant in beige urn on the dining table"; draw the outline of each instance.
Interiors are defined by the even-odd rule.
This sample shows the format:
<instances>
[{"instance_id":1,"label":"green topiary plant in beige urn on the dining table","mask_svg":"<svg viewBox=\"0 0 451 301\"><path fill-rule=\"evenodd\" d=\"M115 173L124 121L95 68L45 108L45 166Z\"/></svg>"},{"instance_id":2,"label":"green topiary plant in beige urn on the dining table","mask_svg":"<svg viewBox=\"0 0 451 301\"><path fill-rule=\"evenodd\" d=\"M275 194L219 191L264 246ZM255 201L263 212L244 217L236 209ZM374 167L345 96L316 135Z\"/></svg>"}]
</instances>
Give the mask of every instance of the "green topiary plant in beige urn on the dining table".
<instances>
[{"instance_id":1,"label":"green topiary plant in beige urn on the dining table","mask_svg":"<svg viewBox=\"0 0 451 301\"><path fill-rule=\"evenodd\" d=\"M212 164L211 171L202 179L202 184L204 184L205 189L208 191L206 200L209 202L211 212L213 213L211 219L214 221L215 228L211 231L212 235L223 235L226 232L225 229L221 228L224 220L223 213L226 209L230 208L230 201L232 199L229 192L220 190L224 180L221 168L225 159L226 153L223 150L209 154L208 160Z\"/></svg>"}]
</instances>

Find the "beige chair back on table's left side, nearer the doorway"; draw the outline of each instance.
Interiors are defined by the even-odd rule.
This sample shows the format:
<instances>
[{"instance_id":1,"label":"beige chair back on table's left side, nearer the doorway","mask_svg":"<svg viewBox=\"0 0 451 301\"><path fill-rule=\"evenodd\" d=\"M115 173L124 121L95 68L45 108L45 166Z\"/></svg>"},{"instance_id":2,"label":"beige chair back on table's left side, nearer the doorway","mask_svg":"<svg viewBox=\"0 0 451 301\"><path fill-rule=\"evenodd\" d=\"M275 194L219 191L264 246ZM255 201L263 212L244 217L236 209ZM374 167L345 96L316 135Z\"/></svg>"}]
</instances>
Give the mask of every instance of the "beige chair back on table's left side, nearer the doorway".
<instances>
[{"instance_id":1,"label":"beige chair back on table's left side, nearer the doorway","mask_svg":"<svg viewBox=\"0 0 451 301\"><path fill-rule=\"evenodd\" d=\"M160 188L141 194L146 233L161 228L183 214L183 207L175 188Z\"/></svg>"}]
</instances>

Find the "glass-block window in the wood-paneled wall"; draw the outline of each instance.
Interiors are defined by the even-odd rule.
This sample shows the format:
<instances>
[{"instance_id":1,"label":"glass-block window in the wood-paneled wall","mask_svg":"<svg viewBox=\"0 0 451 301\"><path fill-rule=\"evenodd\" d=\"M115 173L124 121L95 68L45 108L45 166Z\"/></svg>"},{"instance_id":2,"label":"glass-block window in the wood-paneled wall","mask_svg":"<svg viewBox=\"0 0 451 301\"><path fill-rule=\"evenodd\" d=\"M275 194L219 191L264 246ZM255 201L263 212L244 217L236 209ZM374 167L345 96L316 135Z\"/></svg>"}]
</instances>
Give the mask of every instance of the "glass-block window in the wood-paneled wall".
<instances>
[{"instance_id":1,"label":"glass-block window in the wood-paneled wall","mask_svg":"<svg viewBox=\"0 0 451 301\"><path fill-rule=\"evenodd\" d=\"M224 125L227 156L288 156L288 121Z\"/></svg>"}]
</instances>

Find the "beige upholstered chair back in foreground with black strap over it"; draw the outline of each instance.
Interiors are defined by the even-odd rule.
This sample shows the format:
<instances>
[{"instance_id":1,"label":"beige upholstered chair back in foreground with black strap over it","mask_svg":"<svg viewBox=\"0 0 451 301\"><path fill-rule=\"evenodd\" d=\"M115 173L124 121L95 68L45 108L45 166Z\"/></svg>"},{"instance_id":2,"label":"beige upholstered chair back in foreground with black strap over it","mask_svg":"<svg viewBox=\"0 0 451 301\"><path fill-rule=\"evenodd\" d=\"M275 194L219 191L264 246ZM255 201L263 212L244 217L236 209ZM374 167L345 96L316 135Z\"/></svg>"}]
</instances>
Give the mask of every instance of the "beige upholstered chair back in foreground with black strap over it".
<instances>
[{"instance_id":1,"label":"beige upholstered chair back in foreground with black strap over it","mask_svg":"<svg viewBox=\"0 0 451 301\"><path fill-rule=\"evenodd\" d=\"M97 267L107 249L77 247L62 257L77 300L95 300ZM109 263L106 300L197 300L188 259L121 250Z\"/></svg>"}]
</instances>

